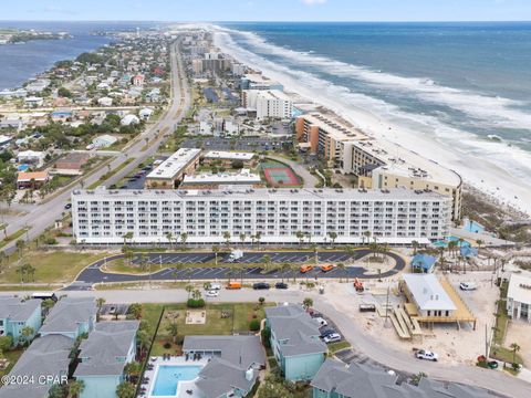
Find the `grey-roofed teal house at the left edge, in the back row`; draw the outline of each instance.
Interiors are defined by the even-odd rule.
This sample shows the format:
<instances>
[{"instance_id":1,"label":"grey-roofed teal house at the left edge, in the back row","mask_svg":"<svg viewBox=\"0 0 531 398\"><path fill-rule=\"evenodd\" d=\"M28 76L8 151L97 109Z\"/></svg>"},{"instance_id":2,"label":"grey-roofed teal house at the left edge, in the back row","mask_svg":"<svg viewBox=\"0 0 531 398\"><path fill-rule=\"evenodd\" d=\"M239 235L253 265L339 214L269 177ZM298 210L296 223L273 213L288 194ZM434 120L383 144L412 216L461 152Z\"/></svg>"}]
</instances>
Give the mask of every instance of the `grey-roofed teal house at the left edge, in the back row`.
<instances>
[{"instance_id":1,"label":"grey-roofed teal house at the left edge, in the back row","mask_svg":"<svg viewBox=\"0 0 531 398\"><path fill-rule=\"evenodd\" d=\"M19 297L0 297L0 336L11 336L13 344L32 339L41 327L41 301ZM31 327L33 333L24 337L22 329Z\"/></svg>"}]
</instances>

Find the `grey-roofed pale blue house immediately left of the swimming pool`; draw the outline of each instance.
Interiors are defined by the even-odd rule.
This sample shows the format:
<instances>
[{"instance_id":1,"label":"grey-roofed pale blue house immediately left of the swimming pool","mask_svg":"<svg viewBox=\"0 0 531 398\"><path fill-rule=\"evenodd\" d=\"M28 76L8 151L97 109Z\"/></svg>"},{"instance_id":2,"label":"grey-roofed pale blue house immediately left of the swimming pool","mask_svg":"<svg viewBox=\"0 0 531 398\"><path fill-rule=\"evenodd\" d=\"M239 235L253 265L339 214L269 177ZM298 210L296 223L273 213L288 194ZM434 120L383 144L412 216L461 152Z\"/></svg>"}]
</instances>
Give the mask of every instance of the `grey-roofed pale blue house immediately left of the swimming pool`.
<instances>
[{"instance_id":1,"label":"grey-roofed pale blue house immediately left of the swimming pool","mask_svg":"<svg viewBox=\"0 0 531 398\"><path fill-rule=\"evenodd\" d=\"M125 365L135 360L138 325L138 321L100 322L81 343L81 363L74 373L74 378L85 386L80 398L116 397Z\"/></svg>"}]
</instances>

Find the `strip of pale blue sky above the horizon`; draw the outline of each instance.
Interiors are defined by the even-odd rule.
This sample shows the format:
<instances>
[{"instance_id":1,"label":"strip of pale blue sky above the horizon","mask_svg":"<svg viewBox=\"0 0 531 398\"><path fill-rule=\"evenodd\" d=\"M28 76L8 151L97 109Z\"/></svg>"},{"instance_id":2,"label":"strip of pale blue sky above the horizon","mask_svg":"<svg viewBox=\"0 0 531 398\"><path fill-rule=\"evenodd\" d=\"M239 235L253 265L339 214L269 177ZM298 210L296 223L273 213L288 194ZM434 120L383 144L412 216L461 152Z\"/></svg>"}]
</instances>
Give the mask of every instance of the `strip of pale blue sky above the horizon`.
<instances>
[{"instance_id":1,"label":"strip of pale blue sky above the horizon","mask_svg":"<svg viewBox=\"0 0 531 398\"><path fill-rule=\"evenodd\" d=\"M531 0L2 0L0 19L530 21Z\"/></svg>"}]
</instances>

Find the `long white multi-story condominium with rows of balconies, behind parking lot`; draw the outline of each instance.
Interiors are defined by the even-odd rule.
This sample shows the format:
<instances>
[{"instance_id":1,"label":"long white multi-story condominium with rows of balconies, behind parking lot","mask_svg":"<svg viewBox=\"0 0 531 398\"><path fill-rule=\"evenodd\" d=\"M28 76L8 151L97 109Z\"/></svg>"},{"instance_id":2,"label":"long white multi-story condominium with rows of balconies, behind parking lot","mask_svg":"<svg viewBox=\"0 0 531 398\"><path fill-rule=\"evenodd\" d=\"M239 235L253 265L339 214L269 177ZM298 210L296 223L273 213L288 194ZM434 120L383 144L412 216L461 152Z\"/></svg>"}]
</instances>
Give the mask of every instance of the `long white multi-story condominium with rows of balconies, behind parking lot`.
<instances>
[{"instance_id":1,"label":"long white multi-story condominium with rows of balconies, behind parking lot","mask_svg":"<svg viewBox=\"0 0 531 398\"><path fill-rule=\"evenodd\" d=\"M188 242L264 243L305 241L389 244L427 243L448 234L451 198L407 189L231 189L231 190L75 190L73 230L80 243L167 242L186 232ZM298 233L299 232L299 233Z\"/></svg>"}]
</instances>

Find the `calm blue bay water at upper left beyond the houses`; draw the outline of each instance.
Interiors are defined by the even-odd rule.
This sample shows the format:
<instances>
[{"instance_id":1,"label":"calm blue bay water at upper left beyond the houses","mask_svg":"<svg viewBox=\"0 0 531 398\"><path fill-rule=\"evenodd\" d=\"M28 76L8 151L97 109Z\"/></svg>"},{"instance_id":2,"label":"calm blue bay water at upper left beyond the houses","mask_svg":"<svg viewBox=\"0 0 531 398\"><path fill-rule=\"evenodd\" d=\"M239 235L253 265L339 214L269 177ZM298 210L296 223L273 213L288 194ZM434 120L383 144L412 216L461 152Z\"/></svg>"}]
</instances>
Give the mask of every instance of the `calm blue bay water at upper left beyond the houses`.
<instances>
[{"instance_id":1,"label":"calm blue bay water at upper left beyond the houses","mask_svg":"<svg viewBox=\"0 0 531 398\"><path fill-rule=\"evenodd\" d=\"M34 40L25 44L0 45L0 90L19 87L28 78L53 66L58 61L73 60L112 42L112 38L94 32L149 28L150 22L32 22L0 21L0 28L69 32L73 39Z\"/></svg>"}]
</instances>

